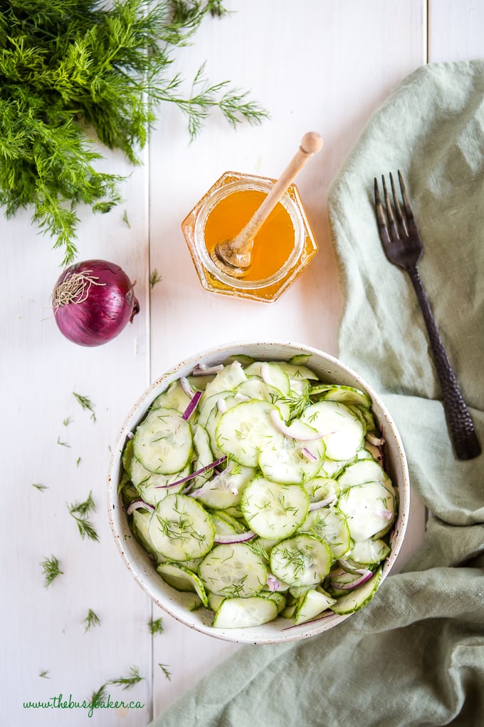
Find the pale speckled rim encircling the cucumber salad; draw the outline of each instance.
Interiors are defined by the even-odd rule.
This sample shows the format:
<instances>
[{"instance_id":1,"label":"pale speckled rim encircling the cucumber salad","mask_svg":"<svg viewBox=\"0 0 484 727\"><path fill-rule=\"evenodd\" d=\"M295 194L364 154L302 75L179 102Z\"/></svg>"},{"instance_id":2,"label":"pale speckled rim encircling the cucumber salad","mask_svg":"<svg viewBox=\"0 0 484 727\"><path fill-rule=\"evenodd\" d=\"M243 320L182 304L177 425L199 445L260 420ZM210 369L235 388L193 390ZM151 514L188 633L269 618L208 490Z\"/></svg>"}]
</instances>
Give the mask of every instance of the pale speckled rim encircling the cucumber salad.
<instances>
[{"instance_id":1,"label":"pale speckled rim encircling the cucumber salad","mask_svg":"<svg viewBox=\"0 0 484 727\"><path fill-rule=\"evenodd\" d=\"M179 603L177 603L173 598L170 601L168 597L168 603L160 600L159 595L155 593L155 589L152 587L151 582L152 576L156 573L156 571L153 567L152 562L149 561L149 556L147 555L147 552L131 534L131 529L129 528L126 516L126 508L121 502L120 494L118 494L121 454L123 451L123 447L126 443L126 439L128 438L128 434L134 430L136 425L138 425L141 419L144 417L155 396L162 393L168 387L168 385L171 384L171 382L185 375L184 373L181 373L181 371L190 371L194 368L194 366L196 366L196 364L200 363L200 361L203 361L204 363L208 362L209 364L221 363L221 361L223 361L223 359L227 358L228 356L235 356L237 353L240 353L242 355L244 353L244 349L247 348L250 350L261 348L262 360L266 358L266 360L274 361L276 360L276 358L279 358L279 361L283 361L284 359L280 355L274 358L269 355L269 352L267 350L264 351L264 349L271 349L273 347L290 349L290 351L288 351L287 358L290 358L290 356L295 356L296 354L308 354L310 357L318 357L330 366L335 366L342 369L345 376L355 379L356 382L358 382L358 388L365 390L366 393L369 394L370 398L372 399L372 410L374 411L375 407L380 410L380 415L378 417L380 425L381 418L384 417L385 424L390 427L391 434L395 441L395 449L397 451L397 458L395 461L398 461L401 469L401 483L398 484L398 516L395 520L395 525L393 526L393 531L390 536L390 545L392 550L383 564L382 577L378 586L379 589L382 585L382 582L384 582L385 578L390 573L391 569L393 569L393 565L396 561L396 558L398 557L398 553L401 550L401 546L403 545L403 539L405 537L406 528L409 520L409 467L406 459L405 449L403 447L403 442L401 440L401 435L398 432L398 428L396 427L393 417L391 416L390 411L388 411L387 406L385 405L385 403L383 403L380 395L378 395L374 391L372 385L369 385L369 383L366 382L366 380L363 379L360 374L358 374L354 369L345 364L339 358L336 358L329 353L325 353L323 350L320 350L318 348L292 341L236 340L233 342L215 345L210 348L205 348L199 353L193 354L192 356L188 356L182 361L179 361L178 364L175 364L175 366L173 366L171 369L168 369L163 374L161 374L160 377L157 377L157 379L155 379L155 381L153 381L152 384L150 384L149 387L147 387L147 389L145 389L144 392L141 393L134 405L131 406L128 415L123 421L123 425L118 431L118 436L115 440L115 446L113 446L111 450L109 470L107 475L108 519L112 535L118 547L118 551L120 552L120 555L123 558L123 561L128 568L128 571L130 571L131 575L134 577L135 581L138 583L141 589L144 590L144 593L146 593L149 598L151 598L152 601L157 604L157 606L159 606L166 613L173 616L173 618L177 621L185 624L193 630L196 630L197 632L202 632L205 635L209 635L213 638L219 638L221 640L231 641L234 643L268 644L287 643L288 641L292 640L302 640L304 638L309 638L313 635L329 630L337 624L345 621L345 619L348 619L348 617L353 614L332 614L331 616L327 616L325 618L316 616L316 619L314 619L313 621L305 622L303 624L299 624L298 626L295 626L294 624L291 624L289 622L290 625L288 625L286 628L279 631L274 630L274 635L263 636L262 633L265 632L265 627L268 627L269 624L263 624L263 626L250 628L217 629L210 624L194 622L193 619L190 619L191 611L189 611L186 607L180 606ZM250 355L255 356L255 354ZM311 368L311 363L308 363L308 366ZM139 558L144 561L143 565L140 565L139 563L134 563L134 559L131 557L131 553L126 552L126 550L130 550L131 547L134 548L136 555L139 555ZM160 579L160 584L158 585L162 590L169 589L168 585L163 583L162 579ZM175 604L175 607L173 607L171 604ZM271 623L274 624L275 622ZM258 635L258 631L261 635Z\"/></svg>"}]
</instances>

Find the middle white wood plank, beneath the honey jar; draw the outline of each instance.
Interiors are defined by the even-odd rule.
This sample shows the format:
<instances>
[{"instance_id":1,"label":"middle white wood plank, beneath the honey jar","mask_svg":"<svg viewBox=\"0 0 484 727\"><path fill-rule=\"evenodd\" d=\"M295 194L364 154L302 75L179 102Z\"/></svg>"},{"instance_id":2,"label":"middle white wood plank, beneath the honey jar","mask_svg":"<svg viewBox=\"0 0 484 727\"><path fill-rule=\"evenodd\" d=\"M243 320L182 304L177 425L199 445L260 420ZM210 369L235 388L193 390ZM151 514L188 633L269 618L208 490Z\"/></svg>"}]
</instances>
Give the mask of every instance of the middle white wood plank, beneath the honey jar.
<instances>
[{"instance_id":1,"label":"middle white wood plank, beneath the honey jar","mask_svg":"<svg viewBox=\"0 0 484 727\"><path fill-rule=\"evenodd\" d=\"M271 113L262 126L234 132L220 115L191 145L177 108L163 107L150 146L150 261L163 276L152 292L152 378L182 358L231 340L292 340L337 353L342 300L329 239L327 189L371 113L424 62L422 0L229 1L194 45L177 52L173 72L187 80L207 60L210 81L230 79ZM296 40L295 40L296 39ZM321 132L325 146L298 178L319 254L276 303L234 300L200 286L181 221L226 170L276 177L300 137ZM371 175L371 170L369 171ZM414 499L406 558L422 537ZM170 616L154 641L158 714L236 647L192 633ZM171 681L158 663L171 667Z\"/></svg>"}]
</instances>

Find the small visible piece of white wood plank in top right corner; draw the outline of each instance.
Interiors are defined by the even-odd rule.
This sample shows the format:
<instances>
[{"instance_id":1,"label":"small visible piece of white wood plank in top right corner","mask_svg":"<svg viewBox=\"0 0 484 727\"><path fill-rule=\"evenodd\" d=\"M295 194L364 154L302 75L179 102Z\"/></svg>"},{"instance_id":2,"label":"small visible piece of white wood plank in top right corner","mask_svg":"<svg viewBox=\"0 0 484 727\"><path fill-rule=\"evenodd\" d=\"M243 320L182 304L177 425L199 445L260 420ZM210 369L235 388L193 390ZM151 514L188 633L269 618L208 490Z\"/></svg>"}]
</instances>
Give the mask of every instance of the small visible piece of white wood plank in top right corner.
<instances>
[{"instance_id":1,"label":"small visible piece of white wood plank in top right corner","mask_svg":"<svg viewBox=\"0 0 484 727\"><path fill-rule=\"evenodd\" d=\"M429 61L484 57L484 3L429 0Z\"/></svg>"}]
</instances>

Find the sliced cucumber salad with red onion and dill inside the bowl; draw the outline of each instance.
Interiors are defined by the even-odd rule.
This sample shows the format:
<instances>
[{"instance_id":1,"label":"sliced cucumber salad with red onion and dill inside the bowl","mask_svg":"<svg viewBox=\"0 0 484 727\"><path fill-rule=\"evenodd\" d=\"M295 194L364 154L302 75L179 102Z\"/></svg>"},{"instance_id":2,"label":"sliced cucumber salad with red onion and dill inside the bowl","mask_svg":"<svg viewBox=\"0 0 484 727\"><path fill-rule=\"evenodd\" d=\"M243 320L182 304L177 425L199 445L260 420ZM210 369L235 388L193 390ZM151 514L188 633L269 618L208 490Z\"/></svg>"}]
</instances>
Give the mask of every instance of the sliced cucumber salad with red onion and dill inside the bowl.
<instances>
[{"instance_id":1,"label":"sliced cucumber salad with red onion and dill inside the bowl","mask_svg":"<svg viewBox=\"0 0 484 727\"><path fill-rule=\"evenodd\" d=\"M350 614L380 583L398 493L372 401L307 358L198 365L123 449L134 536L215 628Z\"/></svg>"}]
</instances>

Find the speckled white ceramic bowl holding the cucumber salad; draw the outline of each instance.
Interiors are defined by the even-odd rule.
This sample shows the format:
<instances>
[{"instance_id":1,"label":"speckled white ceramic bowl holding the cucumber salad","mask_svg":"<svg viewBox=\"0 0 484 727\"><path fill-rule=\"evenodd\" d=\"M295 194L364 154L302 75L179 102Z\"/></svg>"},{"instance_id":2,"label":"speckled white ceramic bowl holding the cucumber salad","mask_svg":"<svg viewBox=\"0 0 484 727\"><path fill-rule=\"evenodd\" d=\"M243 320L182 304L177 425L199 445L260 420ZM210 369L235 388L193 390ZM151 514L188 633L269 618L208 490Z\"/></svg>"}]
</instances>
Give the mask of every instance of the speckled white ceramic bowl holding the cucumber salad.
<instances>
[{"instance_id":1,"label":"speckled white ceramic bowl holding the cucumber salad","mask_svg":"<svg viewBox=\"0 0 484 727\"><path fill-rule=\"evenodd\" d=\"M377 394L374 393L372 387L361 379L355 371L349 369L341 361L338 361L337 358L305 345L279 342L229 343L205 350L196 356L192 356L192 358L187 358L185 361L174 366L171 371L167 371L162 377L157 379L141 395L139 401L131 409L113 449L108 485L110 524L123 560L141 588L164 611L167 611L168 614L171 614L171 616L192 629L216 638L238 643L280 643L283 641L308 638L316 633L335 627L347 619L348 616L337 616L335 614L333 616L327 616L320 621L308 622L306 624L300 624L299 626L294 626L288 619L279 617L273 622L258 627L214 629L210 625L213 619L213 614L210 611L206 611L205 608L197 609L197 611L189 611L184 605L186 594L173 590L173 588L163 582L163 579L157 574L155 567L149 560L147 553L138 544L133 534L131 534L123 502L118 496L118 483L122 469L120 457L126 443L126 438L129 433L134 431L136 425L141 422L141 419L144 418L153 399L164 391L175 379L189 375L196 364L208 364L209 366L220 364L229 356L242 353L247 356L253 356L253 358L258 360L267 359L273 361L287 361L297 354L308 354L310 358L308 358L307 365L318 374L322 381L362 389L372 398L374 416L380 423L380 427L385 431L385 469L392 478L393 485L398 489L399 500L398 518L395 521L393 534L390 539L391 553L388 555L383 566L382 581L387 577L401 549L409 518L409 472L401 437L398 434L398 430L395 427L390 413L382 401L380 401Z\"/></svg>"}]
</instances>

